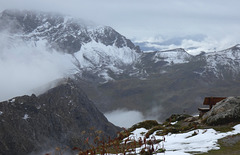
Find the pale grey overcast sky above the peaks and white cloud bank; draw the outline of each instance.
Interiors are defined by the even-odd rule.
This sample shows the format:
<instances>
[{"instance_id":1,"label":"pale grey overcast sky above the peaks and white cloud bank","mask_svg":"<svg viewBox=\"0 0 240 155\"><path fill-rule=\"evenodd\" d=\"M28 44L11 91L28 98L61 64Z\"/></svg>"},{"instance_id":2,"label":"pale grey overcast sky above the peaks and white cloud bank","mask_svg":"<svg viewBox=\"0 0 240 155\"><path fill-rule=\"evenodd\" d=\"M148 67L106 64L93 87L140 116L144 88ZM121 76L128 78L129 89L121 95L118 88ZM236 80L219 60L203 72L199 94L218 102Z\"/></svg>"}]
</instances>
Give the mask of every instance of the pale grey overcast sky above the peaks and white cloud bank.
<instances>
[{"instance_id":1,"label":"pale grey overcast sky above the peaks and white cloud bank","mask_svg":"<svg viewBox=\"0 0 240 155\"><path fill-rule=\"evenodd\" d=\"M8 8L69 14L136 40L204 34L240 43L239 0L0 0Z\"/></svg>"}]
</instances>

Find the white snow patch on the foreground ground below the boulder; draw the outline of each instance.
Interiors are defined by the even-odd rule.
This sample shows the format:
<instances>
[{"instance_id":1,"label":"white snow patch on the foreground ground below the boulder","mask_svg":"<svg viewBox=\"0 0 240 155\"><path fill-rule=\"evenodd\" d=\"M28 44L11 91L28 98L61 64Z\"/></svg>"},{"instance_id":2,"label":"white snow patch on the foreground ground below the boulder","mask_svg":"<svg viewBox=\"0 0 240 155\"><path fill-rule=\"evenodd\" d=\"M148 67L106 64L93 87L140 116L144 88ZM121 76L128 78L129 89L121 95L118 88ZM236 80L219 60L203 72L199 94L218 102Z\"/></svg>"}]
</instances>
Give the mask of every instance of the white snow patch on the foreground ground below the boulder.
<instances>
[{"instance_id":1,"label":"white snow patch on the foreground ground below the boulder","mask_svg":"<svg viewBox=\"0 0 240 155\"><path fill-rule=\"evenodd\" d=\"M203 153L210 150L220 149L219 145L217 144L219 139L240 133L240 124L234 126L233 128L233 131L226 133L217 132L214 129L196 129L187 133L168 134L164 136L157 136L157 131L155 131L146 140L163 140L160 143L154 144L153 147L155 150L157 150L157 148L159 149L164 147L166 149L166 152L164 153L165 155L190 155L190 152ZM136 129L124 140L139 140L140 138L143 140L147 132L148 130L145 128ZM149 147L152 146L150 145ZM136 149L137 153L139 153L143 148L145 148L144 144ZM156 154L161 155L162 153Z\"/></svg>"}]
</instances>

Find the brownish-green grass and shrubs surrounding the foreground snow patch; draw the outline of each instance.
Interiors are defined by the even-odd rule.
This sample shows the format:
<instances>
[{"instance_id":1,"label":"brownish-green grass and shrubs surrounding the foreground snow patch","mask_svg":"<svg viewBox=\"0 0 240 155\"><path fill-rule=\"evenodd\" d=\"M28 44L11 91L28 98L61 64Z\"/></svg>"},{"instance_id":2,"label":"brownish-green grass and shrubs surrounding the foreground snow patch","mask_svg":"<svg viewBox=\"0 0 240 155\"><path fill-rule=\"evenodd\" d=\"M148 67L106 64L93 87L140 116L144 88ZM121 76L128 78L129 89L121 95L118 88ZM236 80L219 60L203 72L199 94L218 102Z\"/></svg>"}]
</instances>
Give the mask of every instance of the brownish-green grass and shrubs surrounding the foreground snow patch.
<instances>
[{"instance_id":1,"label":"brownish-green grass and shrubs surrounding the foreground snow patch","mask_svg":"<svg viewBox=\"0 0 240 155\"><path fill-rule=\"evenodd\" d=\"M121 133L119 133L119 137L115 140L106 142L104 145L99 143L98 147L95 147L96 152L102 151L103 149L112 154L119 154L119 153L126 153L128 152L127 150L133 150L135 152L136 147L144 146L144 143L148 144L150 141L146 142L141 142L140 141L132 141L131 139L125 139L125 137L128 137L130 135L130 132L138 129L138 128L145 128L148 129L148 132L146 133L145 137L149 138L151 135L156 132L156 135L167 135L169 132L171 133L185 133L189 132L191 130L200 128L200 129L209 129L209 128L214 128L217 131L220 132L228 132L233 130L233 126L236 124L239 124L240 122L237 123L229 123L226 125L221 125L221 126L206 126L205 124L195 124L193 122L188 122L185 121L185 118L190 118L191 116L188 115L172 115L170 118L168 118L163 124L158 124L156 121L143 121L138 124L135 124L128 130L124 130ZM195 117L195 120L197 118ZM178 121L178 123L172 125L171 122ZM120 138L121 137L121 138ZM127 142L127 143L126 143ZM161 142L158 141L156 143ZM210 155L237 155L240 153L240 134L234 135L234 136L228 136L223 139L219 140L219 144L221 146L220 150L212 150L209 151L208 153L196 153L196 152L189 152L192 154L198 154L198 155L205 155L205 154L210 154ZM199 144L201 145L201 144ZM150 152L145 152L147 154L151 154ZM144 154L144 153L143 153Z\"/></svg>"}]
</instances>

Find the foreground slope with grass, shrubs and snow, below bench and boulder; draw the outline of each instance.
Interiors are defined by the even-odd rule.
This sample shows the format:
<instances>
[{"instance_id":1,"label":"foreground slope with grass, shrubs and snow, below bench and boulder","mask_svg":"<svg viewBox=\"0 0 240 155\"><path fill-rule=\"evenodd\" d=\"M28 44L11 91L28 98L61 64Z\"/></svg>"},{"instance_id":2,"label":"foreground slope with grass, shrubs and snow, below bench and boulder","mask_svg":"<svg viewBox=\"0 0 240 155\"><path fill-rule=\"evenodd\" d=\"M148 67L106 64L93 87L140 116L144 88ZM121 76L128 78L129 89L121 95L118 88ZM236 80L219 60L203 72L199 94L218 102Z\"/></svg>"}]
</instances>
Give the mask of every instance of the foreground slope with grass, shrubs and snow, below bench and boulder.
<instances>
[{"instance_id":1,"label":"foreground slope with grass, shrubs and snow, below bench and boulder","mask_svg":"<svg viewBox=\"0 0 240 155\"><path fill-rule=\"evenodd\" d=\"M228 113L229 108L221 113ZM104 148L109 154L239 154L239 120L225 123L209 126L198 116L173 114L160 124L139 122L97 150Z\"/></svg>"}]
</instances>

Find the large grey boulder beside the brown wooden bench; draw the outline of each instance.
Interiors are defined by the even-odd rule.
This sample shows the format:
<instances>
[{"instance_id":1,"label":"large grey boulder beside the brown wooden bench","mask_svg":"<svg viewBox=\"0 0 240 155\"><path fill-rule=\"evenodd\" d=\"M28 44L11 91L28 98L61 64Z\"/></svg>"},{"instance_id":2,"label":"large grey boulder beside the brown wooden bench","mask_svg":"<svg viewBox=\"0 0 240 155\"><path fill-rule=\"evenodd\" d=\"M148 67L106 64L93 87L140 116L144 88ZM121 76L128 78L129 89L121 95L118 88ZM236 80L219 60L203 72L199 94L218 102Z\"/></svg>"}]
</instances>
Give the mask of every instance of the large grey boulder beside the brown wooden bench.
<instances>
[{"instance_id":1,"label":"large grey boulder beside the brown wooden bench","mask_svg":"<svg viewBox=\"0 0 240 155\"><path fill-rule=\"evenodd\" d=\"M228 97L218 102L209 112L203 115L208 125L221 125L240 122L240 97Z\"/></svg>"}]
</instances>

